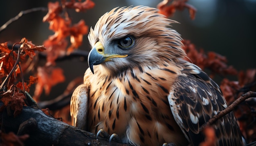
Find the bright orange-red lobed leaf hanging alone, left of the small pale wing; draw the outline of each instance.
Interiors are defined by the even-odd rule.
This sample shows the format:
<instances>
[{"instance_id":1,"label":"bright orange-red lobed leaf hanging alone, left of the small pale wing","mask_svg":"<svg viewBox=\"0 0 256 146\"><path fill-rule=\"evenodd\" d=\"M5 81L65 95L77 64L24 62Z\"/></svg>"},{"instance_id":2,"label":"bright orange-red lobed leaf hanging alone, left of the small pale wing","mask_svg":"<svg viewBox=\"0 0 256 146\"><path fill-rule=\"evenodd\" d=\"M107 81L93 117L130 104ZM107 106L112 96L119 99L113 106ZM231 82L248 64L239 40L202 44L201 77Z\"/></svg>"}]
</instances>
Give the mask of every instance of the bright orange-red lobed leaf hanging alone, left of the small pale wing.
<instances>
[{"instance_id":1,"label":"bright orange-red lobed leaf hanging alone, left of the small pale wing","mask_svg":"<svg viewBox=\"0 0 256 146\"><path fill-rule=\"evenodd\" d=\"M34 99L39 100L43 89L45 94L49 94L52 86L64 82L65 76L63 75L63 70L61 68L49 67L38 67L38 83L36 84L36 90L34 93Z\"/></svg>"}]
</instances>

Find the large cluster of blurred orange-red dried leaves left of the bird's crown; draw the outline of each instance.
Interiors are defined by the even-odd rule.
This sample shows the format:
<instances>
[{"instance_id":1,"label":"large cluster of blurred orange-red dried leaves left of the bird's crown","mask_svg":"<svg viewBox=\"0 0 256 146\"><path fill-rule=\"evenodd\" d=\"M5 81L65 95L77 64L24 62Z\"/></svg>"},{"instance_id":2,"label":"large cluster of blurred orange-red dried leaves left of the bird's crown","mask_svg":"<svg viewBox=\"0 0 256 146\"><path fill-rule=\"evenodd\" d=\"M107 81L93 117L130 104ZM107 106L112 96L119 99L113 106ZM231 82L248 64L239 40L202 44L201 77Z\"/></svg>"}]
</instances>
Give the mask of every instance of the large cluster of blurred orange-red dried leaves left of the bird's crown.
<instances>
[{"instance_id":1,"label":"large cluster of blurred orange-red dried leaves left of the bird's crown","mask_svg":"<svg viewBox=\"0 0 256 146\"><path fill-rule=\"evenodd\" d=\"M49 29L54 31L54 35L49 36L48 40L44 42L47 48L47 65L55 64L56 58L65 55L66 51L71 53L74 49L77 49L83 42L83 35L88 33L88 26L85 25L83 20L72 25L66 9L75 9L79 12L91 9L94 5L91 0L85 0L84 2L81 2L81 0L79 2L62 0L61 4L59 2L48 3L49 11L43 18L43 22L50 23ZM70 36L71 45L67 49L66 38L68 36Z\"/></svg>"}]
</instances>

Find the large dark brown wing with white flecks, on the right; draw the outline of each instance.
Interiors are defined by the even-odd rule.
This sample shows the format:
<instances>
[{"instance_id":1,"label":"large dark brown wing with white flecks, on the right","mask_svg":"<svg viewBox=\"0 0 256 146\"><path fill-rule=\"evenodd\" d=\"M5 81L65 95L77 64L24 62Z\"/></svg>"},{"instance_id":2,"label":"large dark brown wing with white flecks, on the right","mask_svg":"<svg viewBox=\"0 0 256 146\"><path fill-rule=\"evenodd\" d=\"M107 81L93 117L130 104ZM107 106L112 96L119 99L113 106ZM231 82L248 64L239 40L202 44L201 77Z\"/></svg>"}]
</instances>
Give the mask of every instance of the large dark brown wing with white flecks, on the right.
<instances>
[{"instance_id":1,"label":"large dark brown wing with white flecks, on the right","mask_svg":"<svg viewBox=\"0 0 256 146\"><path fill-rule=\"evenodd\" d=\"M192 145L204 141L199 128L213 115L227 108L219 86L197 66L187 63L182 75L168 96L175 121ZM233 112L219 119L216 129L217 145L242 145L241 134Z\"/></svg>"}]
</instances>

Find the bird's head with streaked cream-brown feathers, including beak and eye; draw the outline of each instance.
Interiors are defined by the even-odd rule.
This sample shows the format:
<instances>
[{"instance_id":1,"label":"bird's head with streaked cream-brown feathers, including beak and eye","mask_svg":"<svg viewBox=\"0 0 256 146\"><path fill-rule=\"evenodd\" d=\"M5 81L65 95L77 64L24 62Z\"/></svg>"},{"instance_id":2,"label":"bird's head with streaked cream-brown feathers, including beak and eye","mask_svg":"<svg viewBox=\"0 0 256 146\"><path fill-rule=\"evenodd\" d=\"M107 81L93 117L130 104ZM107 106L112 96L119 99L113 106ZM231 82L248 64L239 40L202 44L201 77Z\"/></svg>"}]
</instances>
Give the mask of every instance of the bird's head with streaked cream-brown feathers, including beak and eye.
<instances>
[{"instance_id":1,"label":"bird's head with streaked cream-brown feathers, including beak and eye","mask_svg":"<svg viewBox=\"0 0 256 146\"><path fill-rule=\"evenodd\" d=\"M105 13L90 29L92 50L88 56L93 66L109 75L131 68L144 68L175 62L183 58L182 38L168 26L176 23L150 7L122 7Z\"/></svg>"}]
</instances>

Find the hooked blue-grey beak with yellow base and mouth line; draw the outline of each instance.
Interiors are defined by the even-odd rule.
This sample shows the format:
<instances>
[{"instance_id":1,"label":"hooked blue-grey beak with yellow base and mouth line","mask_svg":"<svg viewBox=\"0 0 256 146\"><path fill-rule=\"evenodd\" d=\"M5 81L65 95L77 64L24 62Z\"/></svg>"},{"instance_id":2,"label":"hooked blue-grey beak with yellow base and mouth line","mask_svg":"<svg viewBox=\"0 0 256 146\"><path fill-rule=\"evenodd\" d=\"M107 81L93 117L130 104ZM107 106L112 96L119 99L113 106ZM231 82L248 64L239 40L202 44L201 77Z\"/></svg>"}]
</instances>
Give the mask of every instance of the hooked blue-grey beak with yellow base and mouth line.
<instances>
[{"instance_id":1,"label":"hooked blue-grey beak with yellow base and mouth line","mask_svg":"<svg viewBox=\"0 0 256 146\"><path fill-rule=\"evenodd\" d=\"M110 61L110 58L124 58L128 55L118 55L118 54L105 54L105 50L101 42L97 42L88 55L88 65L90 70L94 74L93 66L99 65L103 62Z\"/></svg>"}]
</instances>

